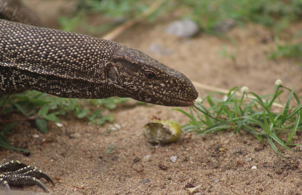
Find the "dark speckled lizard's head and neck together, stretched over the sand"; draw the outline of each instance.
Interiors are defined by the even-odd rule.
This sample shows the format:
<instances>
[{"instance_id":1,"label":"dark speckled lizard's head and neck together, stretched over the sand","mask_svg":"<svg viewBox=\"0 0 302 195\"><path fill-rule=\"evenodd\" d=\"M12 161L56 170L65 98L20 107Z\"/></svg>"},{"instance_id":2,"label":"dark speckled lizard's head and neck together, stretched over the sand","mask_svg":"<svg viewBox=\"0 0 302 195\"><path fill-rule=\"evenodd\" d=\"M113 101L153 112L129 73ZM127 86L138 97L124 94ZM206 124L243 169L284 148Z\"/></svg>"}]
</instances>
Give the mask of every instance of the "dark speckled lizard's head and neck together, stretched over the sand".
<instances>
[{"instance_id":1,"label":"dark speckled lizard's head and neck together, stretched over the sand","mask_svg":"<svg viewBox=\"0 0 302 195\"><path fill-rule=\"evenodd\" d=\"M190 106L182 73L113 41L0 20L0 94L34 89L64 98L128 97Z\"/></svg>"}]
</instances>

